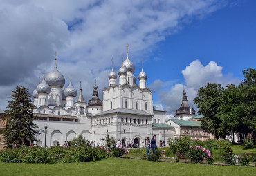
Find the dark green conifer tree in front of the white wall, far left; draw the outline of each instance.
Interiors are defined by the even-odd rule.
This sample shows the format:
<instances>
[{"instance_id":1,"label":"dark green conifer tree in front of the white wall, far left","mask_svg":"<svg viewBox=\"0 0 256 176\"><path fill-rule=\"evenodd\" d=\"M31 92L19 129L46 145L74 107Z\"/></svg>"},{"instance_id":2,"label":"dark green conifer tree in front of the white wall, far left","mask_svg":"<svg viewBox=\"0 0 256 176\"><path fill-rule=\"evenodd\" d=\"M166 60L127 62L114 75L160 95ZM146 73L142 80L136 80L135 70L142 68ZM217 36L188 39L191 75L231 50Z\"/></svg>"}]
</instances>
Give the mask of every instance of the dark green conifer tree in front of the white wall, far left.
<instances>
[{"instance_id":1,"label":"dark green conifer tree in front of the white wall, far left","mask_svg":"<svg viewBox=\"0 0 256 176\"><path fill-rule=\"evenodd\" d=\"M33 115L33 108L30 99L30 93L28 88L17 86L15 91L12 91L10 95L12 101L8 101L6 113L10 115L10 118L6 123L6 130L4 131L4 138L6 145L12 147L12 144L17 146L29 145L30 141L35 141L35 135L37 131L36 124L33 123L35 119Z\"/></svg>"}]
</instances>

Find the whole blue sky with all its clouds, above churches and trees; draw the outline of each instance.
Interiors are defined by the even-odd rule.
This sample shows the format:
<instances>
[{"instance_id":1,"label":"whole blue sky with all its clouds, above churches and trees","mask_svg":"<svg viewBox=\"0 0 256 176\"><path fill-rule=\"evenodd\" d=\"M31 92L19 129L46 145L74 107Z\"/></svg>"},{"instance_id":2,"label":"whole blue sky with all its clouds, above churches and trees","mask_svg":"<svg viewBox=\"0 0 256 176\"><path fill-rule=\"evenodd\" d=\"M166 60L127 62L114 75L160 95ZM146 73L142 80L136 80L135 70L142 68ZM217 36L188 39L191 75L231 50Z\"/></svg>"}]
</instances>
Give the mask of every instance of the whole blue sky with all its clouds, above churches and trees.
<instances>
[{"instance_id":1,"label":"whole blue sky with all its clouds, above churches and trees","mask_svg":"<svg viewBox=\"0 0 256 176\"><path fill-rule=\"evenodd\" d=\"M32 92L42 75L57 66L86 101L94 79L100 95L121 53L134 62L138 77L143 58L154 104L174 115L183 88L190 106L207 82L239 84L242 70L255 68L256 1L7 1L0 7L0 98L15 86ZM138 81L137 81L138 84ZM0 110L6 109L0 102Z\"/></svg>"}]
</instances>

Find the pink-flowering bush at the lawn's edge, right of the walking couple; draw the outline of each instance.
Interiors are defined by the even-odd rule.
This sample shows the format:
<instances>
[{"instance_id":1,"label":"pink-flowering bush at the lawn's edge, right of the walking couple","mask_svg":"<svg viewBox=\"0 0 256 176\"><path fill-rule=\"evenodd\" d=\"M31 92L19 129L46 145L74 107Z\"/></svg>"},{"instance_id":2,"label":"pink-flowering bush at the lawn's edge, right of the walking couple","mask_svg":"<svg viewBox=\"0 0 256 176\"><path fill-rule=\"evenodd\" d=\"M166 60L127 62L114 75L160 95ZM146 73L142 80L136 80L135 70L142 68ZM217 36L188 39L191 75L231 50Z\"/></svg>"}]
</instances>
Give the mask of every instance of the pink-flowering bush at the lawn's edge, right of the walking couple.
<instances>
[{"instance_id":1,"label":"pink-flowering bush at the lawn's edge, right of the walking couple","mask_svg":"<svg viewBox=\"0 0 256 176\"><path fill-rule=\"evenodd\" d=\"M188 150L188 157L191 159L192 163L199 163L206 159L207 162L211 162L212 164L212 154L209 149L205 149L202 146L190 146Z\"/></svg>"}]
</instances>

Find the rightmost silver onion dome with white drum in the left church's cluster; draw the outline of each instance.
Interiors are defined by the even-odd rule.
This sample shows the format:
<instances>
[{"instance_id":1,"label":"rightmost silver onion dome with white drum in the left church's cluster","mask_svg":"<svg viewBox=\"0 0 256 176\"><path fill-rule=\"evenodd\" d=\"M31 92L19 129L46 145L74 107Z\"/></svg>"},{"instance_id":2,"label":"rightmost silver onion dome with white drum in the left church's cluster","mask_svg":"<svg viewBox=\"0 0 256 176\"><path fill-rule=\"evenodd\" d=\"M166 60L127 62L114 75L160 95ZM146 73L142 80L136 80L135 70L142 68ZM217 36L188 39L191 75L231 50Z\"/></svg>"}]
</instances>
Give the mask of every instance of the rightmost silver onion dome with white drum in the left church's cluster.
<instances>
[{"instance_id":1,"label":"rightmost silver onion dome with white drum in the left church's cluster","mask_svg":"<svg viewBox=\"0 0 256 176\"><path fill-rule=\"evenodd\" d=\"M74 107L77 90L73 87L71 79L69 86L64 90L64 95L66 96L66 108Z\"/></svg>"}]
</instances>

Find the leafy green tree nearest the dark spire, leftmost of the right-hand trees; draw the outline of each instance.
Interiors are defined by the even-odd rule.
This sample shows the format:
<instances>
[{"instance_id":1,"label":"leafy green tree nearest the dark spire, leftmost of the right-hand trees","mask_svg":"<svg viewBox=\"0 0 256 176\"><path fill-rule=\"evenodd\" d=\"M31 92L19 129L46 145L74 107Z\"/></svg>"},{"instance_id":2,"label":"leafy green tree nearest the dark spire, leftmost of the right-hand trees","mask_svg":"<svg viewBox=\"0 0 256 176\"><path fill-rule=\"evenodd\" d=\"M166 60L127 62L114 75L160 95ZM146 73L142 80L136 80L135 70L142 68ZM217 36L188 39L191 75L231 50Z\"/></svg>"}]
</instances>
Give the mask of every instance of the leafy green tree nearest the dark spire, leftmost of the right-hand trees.
<instances>
[{"instance_id":1,"label":"leafy green tree nearest the dark spire, leftmost of the right-hand trees","mask_svg":"<svg viewBox=\"0 0 256 176\"><path fill-rule=\"evenodd\" d=\"M220 137L217 134L217 128L221 124L217 112L221 104L223 90L221 84L208 83L205 88L199 88L198 97L194 98L194 103L199 108L198 113L204 116L203 121L201 121L201 128L208 133L212 133L214 138L217 139Z\"/></svg>"}]
</instances>

